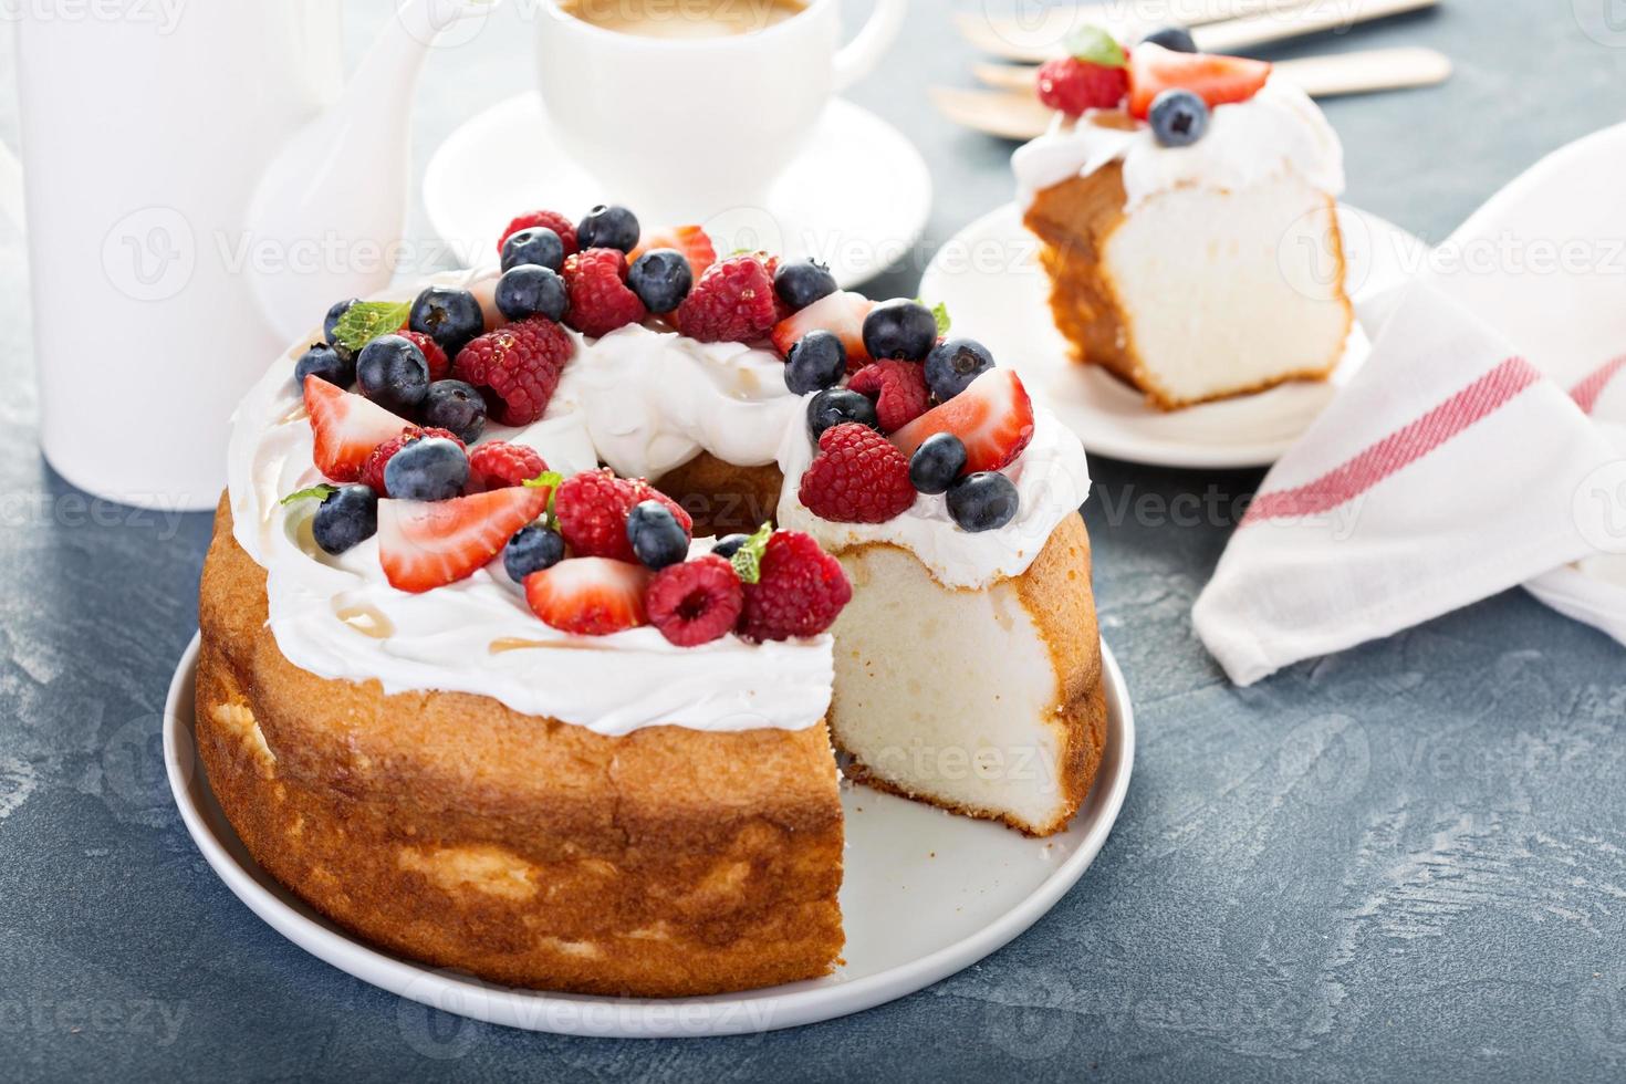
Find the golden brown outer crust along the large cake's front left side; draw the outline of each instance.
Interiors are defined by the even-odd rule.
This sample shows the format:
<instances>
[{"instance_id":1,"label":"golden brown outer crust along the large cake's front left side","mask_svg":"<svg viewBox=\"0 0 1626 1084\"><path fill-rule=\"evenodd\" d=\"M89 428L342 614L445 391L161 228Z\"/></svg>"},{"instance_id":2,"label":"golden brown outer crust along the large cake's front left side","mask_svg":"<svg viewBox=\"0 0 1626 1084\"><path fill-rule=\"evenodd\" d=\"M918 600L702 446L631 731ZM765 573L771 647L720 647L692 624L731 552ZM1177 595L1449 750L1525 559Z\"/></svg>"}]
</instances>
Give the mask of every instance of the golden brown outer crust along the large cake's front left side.
<instances>
[{"instance_id":1,"label":"golden brown outer crust along the large cake's front left side","mask_svg":"<svg viewBox=\"0 0 1626 1084\"><path fill-rule=\"evenodd\" d=\"M203 567L198 752L265 869L393 952L493 982L686 996L829 972L826 728L605 738L459 692L299 670L226 501Z\"/></svg>"}]
</instances>

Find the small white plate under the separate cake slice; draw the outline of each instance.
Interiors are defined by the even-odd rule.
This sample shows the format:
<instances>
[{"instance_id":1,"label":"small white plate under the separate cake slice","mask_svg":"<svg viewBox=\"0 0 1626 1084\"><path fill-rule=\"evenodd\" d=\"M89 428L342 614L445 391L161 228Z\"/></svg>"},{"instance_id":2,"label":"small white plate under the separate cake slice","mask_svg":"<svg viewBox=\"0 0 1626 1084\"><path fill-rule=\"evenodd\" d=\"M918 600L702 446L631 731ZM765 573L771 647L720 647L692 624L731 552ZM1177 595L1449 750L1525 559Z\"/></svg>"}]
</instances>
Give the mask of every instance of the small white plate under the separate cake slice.
<instances>
[{"instance_id":1,"label":"small white plate under the separate cake slice","mask_svg":"<svg viewBox=\"0 0 1626 1084\"><path fill-rule=\"evenodd\" d=\"M1403 281L1426 262L1428 245L1351 206L1338 208L1356 299ZM927 267L920 296L945 302L954 335L982 341L1016 369L1085 442L1085 450L1154 466L1268 466L1309 427L1366 361L1356 325L1328 382L1294 382L1259 395L1159 411L1101 366L1080 366L1050 319L1049 278L1039 242L1015 203L966 226Z\"/></svg>"}]
</instances>

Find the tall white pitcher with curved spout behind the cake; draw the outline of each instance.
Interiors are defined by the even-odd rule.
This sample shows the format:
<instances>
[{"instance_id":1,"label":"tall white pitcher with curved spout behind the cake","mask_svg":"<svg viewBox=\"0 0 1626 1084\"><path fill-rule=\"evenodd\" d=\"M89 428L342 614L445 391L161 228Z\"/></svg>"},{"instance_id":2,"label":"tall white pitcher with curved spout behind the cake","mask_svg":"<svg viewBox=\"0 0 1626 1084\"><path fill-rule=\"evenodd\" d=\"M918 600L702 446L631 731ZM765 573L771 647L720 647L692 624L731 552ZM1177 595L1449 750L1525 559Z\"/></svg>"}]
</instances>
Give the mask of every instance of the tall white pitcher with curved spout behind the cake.
<instances>
[{"instance_id":1,"label":"tall white pitcher with curved spout behind the cake","mask_svg":"<svg viewBox=\"0 0 1626 1084\"><path fill-rule=\"evenodd\" d=\"M332 302L389 284L420 63L491 7L406 0L345 86L337 0L21 5L0 210L26 206L63 478L215 505L242 392Z\"/></svg>"}]
</instances>

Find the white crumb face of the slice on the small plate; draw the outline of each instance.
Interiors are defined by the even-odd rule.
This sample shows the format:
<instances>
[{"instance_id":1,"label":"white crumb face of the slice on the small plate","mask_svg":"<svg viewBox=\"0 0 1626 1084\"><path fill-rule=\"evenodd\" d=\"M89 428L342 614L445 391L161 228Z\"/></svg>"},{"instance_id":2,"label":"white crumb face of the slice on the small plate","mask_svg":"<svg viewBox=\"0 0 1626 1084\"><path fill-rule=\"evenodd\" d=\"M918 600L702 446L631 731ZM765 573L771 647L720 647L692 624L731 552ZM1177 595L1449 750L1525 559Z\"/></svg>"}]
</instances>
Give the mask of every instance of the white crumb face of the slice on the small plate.
<instances>
[{"instance_id":1,"label":"white crumb face of the slice on the small plate","mask_svg":"<svg viewBox=\"0 0 1626 1084\"><path fill-rule=\"evenodd\" d=\"M1102 263L1145 377L1171 403L1319 372L1343 354L1335 205L1296 174L1156 195L1111 234Z\"/></svg>"}]
</instances>

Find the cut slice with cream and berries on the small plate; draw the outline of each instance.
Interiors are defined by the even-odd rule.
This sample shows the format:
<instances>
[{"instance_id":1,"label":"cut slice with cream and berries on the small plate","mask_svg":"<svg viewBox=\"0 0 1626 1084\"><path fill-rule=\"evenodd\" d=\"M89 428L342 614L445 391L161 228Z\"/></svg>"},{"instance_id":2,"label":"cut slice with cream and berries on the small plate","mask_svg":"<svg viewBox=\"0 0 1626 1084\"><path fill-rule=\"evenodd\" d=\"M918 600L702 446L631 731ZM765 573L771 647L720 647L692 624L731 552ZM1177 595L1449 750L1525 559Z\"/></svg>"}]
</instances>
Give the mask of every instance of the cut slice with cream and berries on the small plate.
<instances>
[{"instance_id":1,"label":"cut slice with cream and berries on the small plate","mask_svg":"<svg viewBox=\"0 0 1626 1084\"><path fill-rule=\"evenodd\" d=\"M1327 377L1353 309L1320 109L1182 31L1073 49L1041 68L1057 117L1013 169L1076 359L1163 410Z\"/></svg>"}]
</instances>

